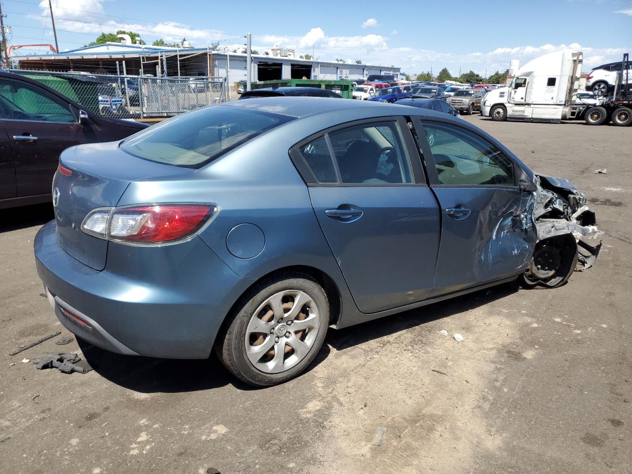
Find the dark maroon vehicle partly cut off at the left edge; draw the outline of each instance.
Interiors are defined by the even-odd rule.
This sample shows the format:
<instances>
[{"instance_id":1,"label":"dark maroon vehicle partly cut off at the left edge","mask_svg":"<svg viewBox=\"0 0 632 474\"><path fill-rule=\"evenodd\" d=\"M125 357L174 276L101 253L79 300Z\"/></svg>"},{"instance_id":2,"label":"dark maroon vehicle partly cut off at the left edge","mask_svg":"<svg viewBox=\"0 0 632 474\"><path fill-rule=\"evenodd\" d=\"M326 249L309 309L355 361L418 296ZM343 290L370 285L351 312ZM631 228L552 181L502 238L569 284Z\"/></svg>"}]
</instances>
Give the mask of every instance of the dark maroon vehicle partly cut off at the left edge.
<instances>
[{"instance_id":1,"label":"dark maroon vehicle partly cut off at the left edge","mask_svg":"<svg viewBox=\"0 0 632 474\"><path fill-rule=\"evenodd\" d=\"M0 209L51 200L63 150L121 140L146 127L97 116L42 83L0 72Z\"/></svg>"}]
</instances>

